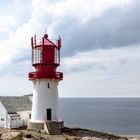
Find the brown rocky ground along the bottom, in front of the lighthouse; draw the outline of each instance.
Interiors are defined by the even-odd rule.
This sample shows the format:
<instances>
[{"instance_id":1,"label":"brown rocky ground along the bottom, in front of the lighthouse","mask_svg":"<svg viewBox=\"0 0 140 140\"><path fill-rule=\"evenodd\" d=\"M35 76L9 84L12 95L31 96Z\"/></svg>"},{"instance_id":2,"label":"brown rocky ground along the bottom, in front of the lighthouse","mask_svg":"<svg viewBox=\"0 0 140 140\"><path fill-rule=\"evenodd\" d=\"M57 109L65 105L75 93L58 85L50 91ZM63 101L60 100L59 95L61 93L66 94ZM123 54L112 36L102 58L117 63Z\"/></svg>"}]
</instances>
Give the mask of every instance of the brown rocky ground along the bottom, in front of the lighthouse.
<instances>
[{"instance_id":1,"label":"brown rocky ground along the bottom, in front of the lighthouse","mask_svg":"<svg viewBox=\"0 0 140 140\"><path fill-rule=\"evenodd\" d=\"M50 136L35 131L0 129L0 140L140 140L140 136L118 136L82 128L64 127L63 134Z\"/></svg>"}]
</instances>

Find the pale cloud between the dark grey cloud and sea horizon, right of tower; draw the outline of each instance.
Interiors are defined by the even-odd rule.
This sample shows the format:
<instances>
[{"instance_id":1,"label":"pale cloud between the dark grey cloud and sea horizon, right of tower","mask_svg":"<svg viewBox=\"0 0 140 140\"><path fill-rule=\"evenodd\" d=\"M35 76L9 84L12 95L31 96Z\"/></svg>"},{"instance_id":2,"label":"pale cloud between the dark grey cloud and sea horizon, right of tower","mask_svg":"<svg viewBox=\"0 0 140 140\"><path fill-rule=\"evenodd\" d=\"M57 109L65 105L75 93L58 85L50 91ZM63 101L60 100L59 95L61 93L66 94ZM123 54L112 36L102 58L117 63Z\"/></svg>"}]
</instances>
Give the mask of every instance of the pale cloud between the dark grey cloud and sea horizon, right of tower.
<instances>
[{"instance_id":1,"label":"pale cloud between the dark grey cloud and sea horizon, right of tower","mask_svg":"<svg viewBox=\"0 0 140 140\"><path fill-rule=\"evenodd\" d=\"M98 49L62 61L63 97L140 97L140 47Z\"/></svg>"}]
</instances>

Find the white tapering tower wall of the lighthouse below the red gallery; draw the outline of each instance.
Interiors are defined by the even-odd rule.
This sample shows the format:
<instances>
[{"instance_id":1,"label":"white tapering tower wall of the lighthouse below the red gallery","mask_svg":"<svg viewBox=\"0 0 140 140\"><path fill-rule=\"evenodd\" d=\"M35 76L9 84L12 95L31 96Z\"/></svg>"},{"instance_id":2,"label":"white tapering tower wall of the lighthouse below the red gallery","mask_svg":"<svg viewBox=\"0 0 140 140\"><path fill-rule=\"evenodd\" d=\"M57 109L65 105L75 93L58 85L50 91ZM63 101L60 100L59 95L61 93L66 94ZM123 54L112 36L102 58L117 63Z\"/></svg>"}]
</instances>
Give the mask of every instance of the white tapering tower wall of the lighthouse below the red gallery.
<instances>
[{"instance_id":1,"label":"white tapering tower wall of the lighthouse below the red gallery","mask_svg":"<svg viewBox=\"0 0 140 140\"><path fill-rule=\"evenodd\" d=\"M47 120L47 109L51 109L52 121L58 121L59 80L36 79L32 82L33 104L30 122L44 122L44 120Z\"/></svg>"}]
</instances>

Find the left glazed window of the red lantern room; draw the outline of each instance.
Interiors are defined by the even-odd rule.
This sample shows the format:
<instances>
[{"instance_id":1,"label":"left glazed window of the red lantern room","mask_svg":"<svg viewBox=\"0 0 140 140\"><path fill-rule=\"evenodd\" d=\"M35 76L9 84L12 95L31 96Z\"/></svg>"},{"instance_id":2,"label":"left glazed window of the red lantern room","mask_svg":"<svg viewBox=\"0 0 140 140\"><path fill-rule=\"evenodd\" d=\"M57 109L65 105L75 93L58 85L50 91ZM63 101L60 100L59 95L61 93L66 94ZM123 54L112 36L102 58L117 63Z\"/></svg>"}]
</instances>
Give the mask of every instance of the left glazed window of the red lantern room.
<instances>
[{"instance_id":1,"label":"left glazed window of the red lantern room","mask_svg":"<svg viewBox=\"0 0 140 140\"><path fill-rule=\"evenodd\" d=\"M42 49L35 48L33 51L33 63L41 63L42 62Z\"/></svg>"}]
</instances>

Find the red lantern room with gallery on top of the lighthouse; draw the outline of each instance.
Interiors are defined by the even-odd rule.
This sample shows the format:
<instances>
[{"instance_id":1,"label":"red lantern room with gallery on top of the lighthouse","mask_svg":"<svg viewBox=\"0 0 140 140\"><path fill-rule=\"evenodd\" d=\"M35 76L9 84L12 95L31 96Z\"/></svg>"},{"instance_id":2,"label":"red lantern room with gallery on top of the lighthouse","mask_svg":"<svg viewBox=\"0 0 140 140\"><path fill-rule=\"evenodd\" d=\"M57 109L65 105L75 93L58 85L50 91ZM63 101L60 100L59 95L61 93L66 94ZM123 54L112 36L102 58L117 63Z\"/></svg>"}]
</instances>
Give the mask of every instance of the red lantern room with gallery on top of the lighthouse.
<instances>
[{"instance_id":1,"label":"red lantern room with gallery on top of the lighthouse","mask_svg":"<svg viewBox=\"0 0 140 140\"><path fill-rule=\"evenodd\" d=\"M29 80L35 79L63 79L63 73L57 72L60 65L61 38L51 41L45 34L41 40L36 40L36 36L31 38L32 46L32 66L35 72L29 73Z\"/></svg>"}]
</instances>

